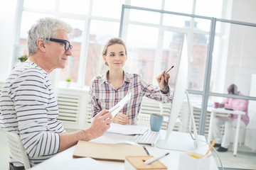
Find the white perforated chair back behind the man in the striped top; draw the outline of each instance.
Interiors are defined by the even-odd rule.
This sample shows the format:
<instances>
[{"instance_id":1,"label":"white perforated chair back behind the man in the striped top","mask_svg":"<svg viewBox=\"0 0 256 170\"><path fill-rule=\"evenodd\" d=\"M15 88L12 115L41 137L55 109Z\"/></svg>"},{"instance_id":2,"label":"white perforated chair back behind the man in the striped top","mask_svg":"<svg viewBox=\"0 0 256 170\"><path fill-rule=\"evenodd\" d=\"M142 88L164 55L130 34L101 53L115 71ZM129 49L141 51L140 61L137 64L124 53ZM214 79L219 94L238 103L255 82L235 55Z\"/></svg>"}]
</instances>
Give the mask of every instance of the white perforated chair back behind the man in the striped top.
<instances>
[{"instance_id":1,"label":"white perforated chair back behind the man in the striped top","mask_svg":"<svg viewBox=\"0 0 256 170\"><path fill-rule=\"evenodd\" d=\"M14 132L6 132L9 142L9 148L11 152L11 157L21 162L25 169L30 169L31 165L28 160L28 155L24 149L21 138Z\"/></svg>"}]
</instances>

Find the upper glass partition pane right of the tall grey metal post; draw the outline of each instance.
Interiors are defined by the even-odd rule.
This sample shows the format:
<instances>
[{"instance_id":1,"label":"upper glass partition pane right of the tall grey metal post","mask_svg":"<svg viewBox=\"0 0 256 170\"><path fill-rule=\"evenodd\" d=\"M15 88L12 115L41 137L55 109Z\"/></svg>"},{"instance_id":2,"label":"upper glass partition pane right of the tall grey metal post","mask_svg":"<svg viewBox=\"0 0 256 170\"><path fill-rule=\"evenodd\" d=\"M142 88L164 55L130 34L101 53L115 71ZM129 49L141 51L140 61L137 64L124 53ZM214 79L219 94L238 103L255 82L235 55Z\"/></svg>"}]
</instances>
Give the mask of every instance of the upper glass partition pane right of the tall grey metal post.
<instances>
[{"instance_id":1,"label":"upper glass partition pane right of the tall grey metal post","mask_svg":"<svg viewBox=\"0 0 256 170\"><path fill-rule=\"evenodd\" d=\"M228 86L236 84L238 91L245 96L252 96L250 91L254 87L251 86L251 82L256 68L256 40L253 37L256 27L222 21L218 21L216 25L222 25L223 28L230 29L230 32L224 32L221 36L216 35L210 91L227 94ZM220 46L228 46L230 50L220 50Z\"/></svg>"}]
</instances>

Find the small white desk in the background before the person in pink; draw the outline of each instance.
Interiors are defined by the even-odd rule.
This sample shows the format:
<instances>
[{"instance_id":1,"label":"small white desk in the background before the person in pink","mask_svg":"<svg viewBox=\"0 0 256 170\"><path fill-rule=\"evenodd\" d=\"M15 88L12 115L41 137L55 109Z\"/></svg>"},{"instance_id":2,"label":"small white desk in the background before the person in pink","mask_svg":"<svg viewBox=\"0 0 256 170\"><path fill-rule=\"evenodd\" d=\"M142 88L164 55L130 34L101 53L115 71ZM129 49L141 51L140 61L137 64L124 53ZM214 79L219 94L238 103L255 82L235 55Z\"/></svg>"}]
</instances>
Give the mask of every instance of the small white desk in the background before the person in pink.
<instances>
[{"instance_id":1,"label":"small white desk in the background before the person in pink","mask_svg":"<svg viewBox=\"0 0 256 170\"><path fill-rule=\"evenodd\" d=\"M213 135L213 118L215 118L215 113L220 113L223 115L229 115L229 114L234 114L238 115L238 121L237 121L237 127L235 130L235 143L234 143L234 156L236 156L238 152L238 136L239 136L239 129L240 129L240 120L241 120L241 115L245 115L245 112L242 111L229 111L226 110L225 108L214 108L210 112L210 125L209 125L209 132L208 132L208 142L211 141L212 135Z\"/></svg>"}]
</instances>

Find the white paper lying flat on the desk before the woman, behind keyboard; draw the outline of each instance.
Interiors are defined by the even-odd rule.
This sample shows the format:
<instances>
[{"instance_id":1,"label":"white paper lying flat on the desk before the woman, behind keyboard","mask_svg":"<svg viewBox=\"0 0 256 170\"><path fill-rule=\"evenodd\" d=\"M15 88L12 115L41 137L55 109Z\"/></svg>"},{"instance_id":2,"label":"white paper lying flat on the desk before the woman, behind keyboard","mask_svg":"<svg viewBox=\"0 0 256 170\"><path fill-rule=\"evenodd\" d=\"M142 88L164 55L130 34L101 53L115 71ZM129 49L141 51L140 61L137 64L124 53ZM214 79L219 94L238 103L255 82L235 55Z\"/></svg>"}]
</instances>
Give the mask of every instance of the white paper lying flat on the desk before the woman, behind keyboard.
<instances>
[{"instance_id":1,"label":"white paper lying flat on the desk before the woman, behind keyboard","mask_svg":"<svg viewBox=\"0 0 256 170\"><path fill-rule=\"evenodd\" d=\"M117 123L111 123L107 132L118 133L122 135L139 135L144 134L149 128L137 125L120 125Z\"/></svg>"}]
</instances>

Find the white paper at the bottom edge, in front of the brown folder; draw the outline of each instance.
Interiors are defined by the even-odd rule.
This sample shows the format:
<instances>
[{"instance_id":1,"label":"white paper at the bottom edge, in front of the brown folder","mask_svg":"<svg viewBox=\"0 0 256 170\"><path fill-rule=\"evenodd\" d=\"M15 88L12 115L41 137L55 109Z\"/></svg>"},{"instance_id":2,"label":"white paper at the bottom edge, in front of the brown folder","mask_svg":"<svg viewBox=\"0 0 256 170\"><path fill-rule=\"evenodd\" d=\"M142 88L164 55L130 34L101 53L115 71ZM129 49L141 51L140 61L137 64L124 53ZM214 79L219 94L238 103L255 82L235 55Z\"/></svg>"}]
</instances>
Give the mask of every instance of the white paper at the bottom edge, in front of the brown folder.
<instances>
[{"instance_id":1,"label":"white paper at the bottom edge, in front of the brown folder","mask_svg":"<svg viewBox=\"0 0 256 170\"><path fill-rule=\"evenodd\" d=\"M85 158L75 158L69 159L62 162L56 162L54 164L38 164L38 166L34 166L31 170L46 170L46 169L62 169L62 170L70 170L70 169L88 169L88 170L98 170L98 169L107 169L111 170L110 166L103 164L102 162L98 162L95 159L85 157Z\"/></svg>"}]
</instances>

